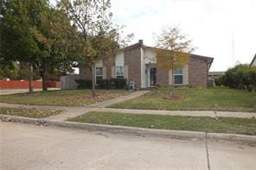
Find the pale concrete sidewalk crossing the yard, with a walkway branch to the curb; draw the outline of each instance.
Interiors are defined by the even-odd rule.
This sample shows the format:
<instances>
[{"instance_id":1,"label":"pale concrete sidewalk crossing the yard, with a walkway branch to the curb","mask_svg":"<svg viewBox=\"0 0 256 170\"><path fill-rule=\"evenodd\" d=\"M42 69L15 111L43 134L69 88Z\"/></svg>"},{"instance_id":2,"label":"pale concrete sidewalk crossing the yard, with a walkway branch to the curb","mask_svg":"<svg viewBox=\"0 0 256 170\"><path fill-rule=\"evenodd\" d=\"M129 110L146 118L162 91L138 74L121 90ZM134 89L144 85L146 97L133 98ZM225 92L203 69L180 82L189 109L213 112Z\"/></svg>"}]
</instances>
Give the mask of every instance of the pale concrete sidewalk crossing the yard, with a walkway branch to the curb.
<instances>
[{"instance_id":1,"label":"pale concrete sidewalk crossing the yard, with a walkway branch to the curb","mask_svg":"<svg viewBox=\"0 0 256 170\"><path fill-rule=\"evenodd\" d=\"M122 97L121 97L122 98ZM118 99L118 98L116 98ZM117 100L112 100L117 102ZM112 102L107 101L109 105ZM111 103L111 104L110 104ZM238 117L238 118L252 118L256 117L255 112L233 112L233 111L213 111L213 110L131 110L131 109L112 109L100 107L101 103L84 106L84 107L67 107L67 106L48 106L48 105L25 105L25 104L3 104L0 103L0 107L10 108L38 108L38 109L50 109L50 110L64 110L60 115L50 116L47 120L64 121L67 118L80 116L90 111L102 111L102 112L118 112L118 113L130 113L130 114L148 114L148 115L170 115L170 116L210 116L210 117ZM105 105L108 105L105 103Z\"/></svg>"}]
</instances>

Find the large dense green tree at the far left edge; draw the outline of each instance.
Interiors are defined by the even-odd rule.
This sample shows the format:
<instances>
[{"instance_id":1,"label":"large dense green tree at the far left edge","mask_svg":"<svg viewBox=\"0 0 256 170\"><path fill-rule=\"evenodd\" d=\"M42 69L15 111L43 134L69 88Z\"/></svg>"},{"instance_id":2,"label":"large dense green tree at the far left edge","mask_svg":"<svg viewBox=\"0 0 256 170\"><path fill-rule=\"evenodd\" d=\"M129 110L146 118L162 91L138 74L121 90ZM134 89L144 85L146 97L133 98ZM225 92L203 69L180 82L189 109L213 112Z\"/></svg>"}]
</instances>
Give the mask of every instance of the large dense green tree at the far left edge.
<instances>
[{"instance_id":1,"label":"large dense green tree at the far left edge","mask_svg":"<svg viewBox=\"0 0 256 170\"><path fill-rule=\"evenodd\" d=\"M40 50L34 39L38 15L47 1L1 0L1 65L12 61L29 63L29 94L33 94L32 72Z\"/></svg>"}]
</instances>

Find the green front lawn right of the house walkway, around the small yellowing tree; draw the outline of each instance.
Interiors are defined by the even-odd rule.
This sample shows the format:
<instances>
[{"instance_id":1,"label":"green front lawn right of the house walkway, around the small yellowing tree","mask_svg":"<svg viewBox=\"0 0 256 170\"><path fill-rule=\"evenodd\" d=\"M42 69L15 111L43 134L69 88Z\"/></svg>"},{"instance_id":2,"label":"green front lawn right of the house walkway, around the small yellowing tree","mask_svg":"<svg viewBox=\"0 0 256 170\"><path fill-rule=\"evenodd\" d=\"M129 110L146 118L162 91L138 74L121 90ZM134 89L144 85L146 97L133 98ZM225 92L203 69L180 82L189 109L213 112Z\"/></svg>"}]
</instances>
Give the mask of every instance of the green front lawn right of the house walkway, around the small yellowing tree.
<instances>
[{"instance_id":1,"label":"green front lawn right of the house walkway, around the small yellowing tree","mask_svg":"<svg viewBox=\"0 0 256 170\"><path fill-rule=\"evenodd\" d=\"M144 96L124 103L113 104L112 108L145 110L230 110L256 111L256 92L239 91L227 88L177 88L176 93L182 100L164 99L170 94L170 88L152 90Z\"/></svg>"}]
</instances>

